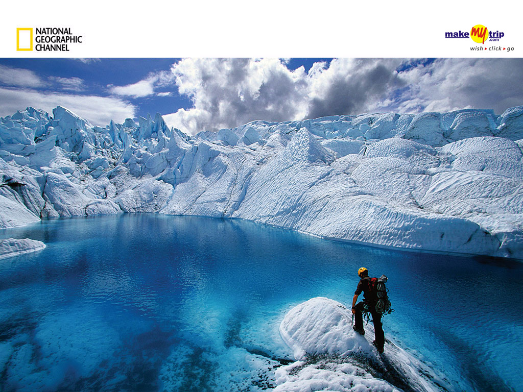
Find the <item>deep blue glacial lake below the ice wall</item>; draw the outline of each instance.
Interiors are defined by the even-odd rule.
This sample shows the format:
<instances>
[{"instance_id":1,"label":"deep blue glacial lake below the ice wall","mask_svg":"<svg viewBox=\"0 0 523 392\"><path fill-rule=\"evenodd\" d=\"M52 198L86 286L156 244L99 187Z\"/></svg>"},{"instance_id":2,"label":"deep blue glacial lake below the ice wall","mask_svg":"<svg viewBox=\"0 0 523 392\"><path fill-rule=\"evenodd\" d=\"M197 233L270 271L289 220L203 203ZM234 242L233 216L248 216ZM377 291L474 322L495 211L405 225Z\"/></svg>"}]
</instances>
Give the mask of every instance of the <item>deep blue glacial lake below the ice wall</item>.
<instances>
[{"instance_id":1,"label":"deep blue glacial lake below the ice wall","mask_svg":"<svg viewBox=\"0 0 523 392\"><path fill-rule=\"evenodd\" d=\"M523 390L523 264L385 250L251 222L132 214L0 230L0 390L245 391L292 359L278 332L316 296L389 277L385 337L457 391Z\"/></svg>"}]
</instances>

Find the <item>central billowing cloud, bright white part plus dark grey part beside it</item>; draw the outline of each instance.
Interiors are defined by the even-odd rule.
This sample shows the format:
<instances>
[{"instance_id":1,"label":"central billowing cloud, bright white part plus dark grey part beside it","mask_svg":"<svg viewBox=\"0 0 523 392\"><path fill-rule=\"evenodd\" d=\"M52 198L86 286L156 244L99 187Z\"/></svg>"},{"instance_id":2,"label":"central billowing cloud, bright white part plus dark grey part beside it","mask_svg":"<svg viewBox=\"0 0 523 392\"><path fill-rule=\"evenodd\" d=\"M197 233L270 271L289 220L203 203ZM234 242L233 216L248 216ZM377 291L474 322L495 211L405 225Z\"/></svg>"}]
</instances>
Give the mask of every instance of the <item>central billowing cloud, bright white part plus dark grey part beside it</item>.
<instances>
[{"instance_id":1,"label":"central billowing cloud, bright white part plus dark grey part beside it","mask_svg":"<svg viewBox=\"0 0 523 392\"><path fill-rule=\"evenodd\" d=\"M194 107L164 116L189 133L253 120L286 121L376 109L405 82L402 60L335 59L289 70L280 59L184 59L172 67Z\"/></svg>"}]
</instances>

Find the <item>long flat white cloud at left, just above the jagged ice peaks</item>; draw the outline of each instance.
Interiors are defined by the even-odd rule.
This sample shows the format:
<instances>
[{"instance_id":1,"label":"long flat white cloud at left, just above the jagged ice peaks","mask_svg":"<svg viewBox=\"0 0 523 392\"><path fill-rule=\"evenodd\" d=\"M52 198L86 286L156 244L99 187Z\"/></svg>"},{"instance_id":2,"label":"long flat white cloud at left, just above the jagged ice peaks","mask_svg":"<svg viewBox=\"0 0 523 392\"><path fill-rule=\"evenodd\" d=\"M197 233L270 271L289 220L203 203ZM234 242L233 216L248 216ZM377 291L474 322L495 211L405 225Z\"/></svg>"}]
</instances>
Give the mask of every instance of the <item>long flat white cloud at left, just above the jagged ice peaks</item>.
<instances>
[{"instance_id":1,"label":"long flat white cloud at left, just above the jagged ice peaks","mask_svg":"<svg viewBox=\"0 0 523 392\"><path fill-rule=\"evenodd\" d=\"M136 108L119 98L86 95L41 93L33 89L0 87L0 116L5 117L28 106L52 113L63 106L94 125L105 126L112 120L122 123L135 117Z\"/></svg>"}]
</instances>

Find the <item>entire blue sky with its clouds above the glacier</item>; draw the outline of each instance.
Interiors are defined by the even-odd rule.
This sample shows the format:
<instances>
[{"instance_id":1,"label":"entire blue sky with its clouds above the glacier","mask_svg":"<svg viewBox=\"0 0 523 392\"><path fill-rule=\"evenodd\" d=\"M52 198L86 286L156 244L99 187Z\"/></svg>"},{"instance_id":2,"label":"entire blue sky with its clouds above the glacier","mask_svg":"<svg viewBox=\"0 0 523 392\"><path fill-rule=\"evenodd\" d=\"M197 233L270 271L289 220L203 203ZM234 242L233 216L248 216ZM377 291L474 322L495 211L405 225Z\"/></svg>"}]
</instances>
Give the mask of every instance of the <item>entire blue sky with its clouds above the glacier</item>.
<instances>
[{"instance_id":1,"label":"entire blue sky with its clouds above the glacier","mask_svg":"<svg viewBox=\"0 0 523 392\"><path fill-rule=\"evenodd\" d=\"M252 120L523 104L521 59L0 59L0 116L64 106L96 125L160 112L187 133Z\"/></svg>"}]
</instances>

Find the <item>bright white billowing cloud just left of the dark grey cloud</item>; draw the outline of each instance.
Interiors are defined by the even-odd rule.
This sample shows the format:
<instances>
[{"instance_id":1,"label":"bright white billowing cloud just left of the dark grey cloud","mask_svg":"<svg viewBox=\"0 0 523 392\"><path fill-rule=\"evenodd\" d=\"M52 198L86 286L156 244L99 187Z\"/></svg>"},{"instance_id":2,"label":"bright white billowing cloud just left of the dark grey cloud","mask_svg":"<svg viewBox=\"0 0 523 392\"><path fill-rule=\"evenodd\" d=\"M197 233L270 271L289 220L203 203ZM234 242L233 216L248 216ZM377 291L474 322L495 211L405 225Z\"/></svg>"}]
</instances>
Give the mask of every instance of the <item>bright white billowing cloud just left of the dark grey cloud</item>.
<instances>
[{"instance_id":1,"label":"bright white billowing cloud just left of the dark grey cloud","mask_svg":"<svg viewBox=\"0 0 523 392\"><path fill-rule=\"evenodd\" d=\"M278 59L185 59L173 65L172 73L179 93L189 96L194 107L164 118L190 133L306 113L303 67L290 71Z\"/></svg>"}]
</instances>

